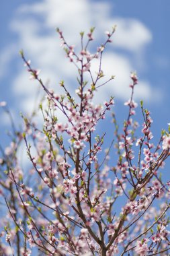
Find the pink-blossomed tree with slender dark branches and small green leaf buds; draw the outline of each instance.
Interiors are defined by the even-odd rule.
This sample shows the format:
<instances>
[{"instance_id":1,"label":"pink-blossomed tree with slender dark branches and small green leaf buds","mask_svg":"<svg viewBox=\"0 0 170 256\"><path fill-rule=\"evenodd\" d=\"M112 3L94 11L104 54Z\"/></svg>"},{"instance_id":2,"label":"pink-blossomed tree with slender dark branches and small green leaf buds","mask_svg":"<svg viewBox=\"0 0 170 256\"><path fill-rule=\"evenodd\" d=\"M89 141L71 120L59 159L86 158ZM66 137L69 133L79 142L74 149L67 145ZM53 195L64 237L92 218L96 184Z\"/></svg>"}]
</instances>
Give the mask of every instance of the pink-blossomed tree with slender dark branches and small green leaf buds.
<instances>
[{"instance_id":1,"label":"pink-blossomed tree with slender dark branches and small green leaf buds","mask_svg":"<svg viewBox=\"0 0 170 256\"><path fill-rule=\"evenodd\" d=\"M159 141L153 143L153 120L142 100L142 121L135 121L138 77L134 72L122 128L113 97L103 104L93 103L101 86L114 79L114 75L105 79L101 61L115 29L105 33L106 40L95 53L89 52L94 28L87 37L80 33L77 52L57 29L62 48L77 69L75 95L64 81L60 82L62 95L45 86L40 71L21 51L46 100L40 103L42 127L32 116L22 116L21 129L16 129L1 102L12 129L11 143L1 148L0 158L0 255L169 255L170 181L161 174L169 156L170 129L161 131ZM95 75L91 72L94 59L99 61ZM105 139L109 132L105 115L112 121L110 141ZM97 132L98 123L105 129L102 134ZM22 168L17 154L23 141L28 170Z\"/></svg>"}]
</instances>

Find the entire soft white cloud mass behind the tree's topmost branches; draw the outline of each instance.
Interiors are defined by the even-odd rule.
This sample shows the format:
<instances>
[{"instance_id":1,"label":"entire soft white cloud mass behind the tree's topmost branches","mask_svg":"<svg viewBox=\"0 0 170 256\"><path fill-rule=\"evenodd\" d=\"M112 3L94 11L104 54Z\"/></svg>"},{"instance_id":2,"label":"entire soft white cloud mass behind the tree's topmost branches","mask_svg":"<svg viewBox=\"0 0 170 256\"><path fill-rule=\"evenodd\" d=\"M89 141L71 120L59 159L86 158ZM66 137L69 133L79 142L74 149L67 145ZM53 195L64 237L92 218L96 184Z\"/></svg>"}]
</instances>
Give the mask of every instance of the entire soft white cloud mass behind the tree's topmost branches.
<instances>
[{"instance_id":1,"label":"entire soft white cloud mass behind the tree's topmost branches","mask_svg":"<svg viewBox=\"0 0 170 256\"><path fill-rule=\"evenodd\" d=\"M60 93L58 86L60 79L65 79L67 88L72 92L77 86L77 81L75 67L68 63L65 54L59 48L58 36L55 38L54 28L60 27L68 42L77 44L79 32L82 30L88 32L91 26L96 26L95 38L102 42L101 37L104 35L101 36L101 33L114 24L118 25L118 30L114 35L112 46L136 54L142 52L146 44L151 42L151 32L146 26L138 20L112 18L110 3L104 1L91 3L86 0L44 0L21 5L11 22L11 30L18 36L16 52L24 49L26 57L32 59L33 67L42 69L40 76L44 82L50 79L50 86ZM110 94L122 100L125 100L129 94L130 71L134 68L127 55L118 55L112 51L110 48L108 53L103 55L103 71L105 77L116 75L116 79L109 87L101 88L101 102ZM30 110L34 98L32 96L36 92L35 83L30 82L28 77L24 69L13 77L13 93L16 97L20 97L19 108L26 110ZM142 95L146 99L152 98L153 92L149 83L141 81L137 95Z\"/></svg>"}]
</instances>

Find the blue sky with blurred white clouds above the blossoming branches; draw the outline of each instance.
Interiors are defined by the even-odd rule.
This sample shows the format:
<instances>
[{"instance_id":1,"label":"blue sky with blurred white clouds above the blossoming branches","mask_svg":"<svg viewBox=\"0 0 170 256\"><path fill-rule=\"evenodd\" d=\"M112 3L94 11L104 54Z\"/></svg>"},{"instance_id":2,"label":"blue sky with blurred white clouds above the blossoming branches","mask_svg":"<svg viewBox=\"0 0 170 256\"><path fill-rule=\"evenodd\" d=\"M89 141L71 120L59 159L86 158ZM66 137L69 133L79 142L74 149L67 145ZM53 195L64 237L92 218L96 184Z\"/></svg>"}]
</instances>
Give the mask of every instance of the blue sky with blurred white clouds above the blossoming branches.
<instances>
[{"instance_id":1,"label":"blue sky with blurred white clouds above the blossoming branches","mask_svg":"<svg viewBox=\"0 0 170 256\"><path fill-rule=\"evenodd\" d=\"M68 42L79 44L79 32L88 32L91 26L95 26L95 38L100 44L103 32L117 24L112 46L103 58L105 75L116 75L116 79L99 92L101 102L110 94L116 96L116 110L122 117L123 102L128 99L130 71L136 70L140 81L136 100L139 102L142 98L151 110L153 133L159 137L160 130L166 129L170 122L169 11L169 0L2 0L0 101L7 101L17 122L22 122L19 117L21 110L29 113L34 106L37 84L29 80L19 57L20 49L24 49L34 67L42 69L44 82L49 80L50 86L59 92L58 82L64 79L74 92L75 69L60 49L55 28L59 26L63 30ZM8 125L2 111L1 120L2 134Z\"/></svg>"}]
</instances>

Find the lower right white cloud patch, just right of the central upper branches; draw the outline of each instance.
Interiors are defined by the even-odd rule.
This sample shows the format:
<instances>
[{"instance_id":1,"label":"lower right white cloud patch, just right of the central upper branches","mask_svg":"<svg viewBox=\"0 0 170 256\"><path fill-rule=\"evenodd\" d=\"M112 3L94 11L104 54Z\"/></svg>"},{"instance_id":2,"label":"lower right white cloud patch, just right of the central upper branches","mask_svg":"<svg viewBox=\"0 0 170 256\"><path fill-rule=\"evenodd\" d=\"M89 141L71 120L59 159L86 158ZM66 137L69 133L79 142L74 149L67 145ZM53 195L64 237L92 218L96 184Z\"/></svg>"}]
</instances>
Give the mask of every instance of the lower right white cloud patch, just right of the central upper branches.
<instances>
[{"instance_id":1,"label":"lower right white cloud patch, just right of the central upper branches","mask_svg":"<svg viewBox=\"0 0 170 256\"><path fill-rule=\"evenodd\" d=\"M98 69L97 61L93 62L91 67L93 75ZM106 77L110 78L112 75L116 75L115 79L112 82L99 88L97 92L97 99L101 98L108 99L110 95L115 96L116 98L121 98L122 100L127 100L130 97L131 90L129 85L131 83L130 72L133 70L133 67L124 55L118 55L115 53L107 53L103 55L103 73ZM102 81L100 84L102 84ZM100 85L98 84L98 85ZM139 79L138 85L135 87L134 98L136 100L147 100L148 102L154 102L161 99L160 92L157 89L151 88L151 85L148 81ZM96 100L97 100L96 99Z\"/></svg>"}]
</instances>

